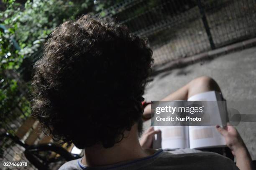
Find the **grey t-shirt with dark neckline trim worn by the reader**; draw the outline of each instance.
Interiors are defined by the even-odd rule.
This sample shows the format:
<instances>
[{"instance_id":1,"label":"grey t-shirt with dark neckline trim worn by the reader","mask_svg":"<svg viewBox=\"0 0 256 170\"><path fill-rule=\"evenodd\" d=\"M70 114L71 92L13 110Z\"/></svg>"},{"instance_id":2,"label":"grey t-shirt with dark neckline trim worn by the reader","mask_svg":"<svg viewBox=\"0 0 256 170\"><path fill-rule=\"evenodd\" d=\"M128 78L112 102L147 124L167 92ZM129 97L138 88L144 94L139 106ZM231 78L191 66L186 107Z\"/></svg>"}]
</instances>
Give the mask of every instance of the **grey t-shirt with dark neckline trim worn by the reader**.
<instances>
[{"instance_id":1,"label":"grey t-shirt with dark neckline trim worn by the reader","mask_svg":"<svg viewBox=\"0 0 256 170\"><path fill-rule=\"evenodd\" d=\"M239 170L227 157L212 153L199 152L178 154L159 150L154 155L129 162L104 167L86 167L81 158L62 165L59 170Z\"/></svg>"}]
</instances>

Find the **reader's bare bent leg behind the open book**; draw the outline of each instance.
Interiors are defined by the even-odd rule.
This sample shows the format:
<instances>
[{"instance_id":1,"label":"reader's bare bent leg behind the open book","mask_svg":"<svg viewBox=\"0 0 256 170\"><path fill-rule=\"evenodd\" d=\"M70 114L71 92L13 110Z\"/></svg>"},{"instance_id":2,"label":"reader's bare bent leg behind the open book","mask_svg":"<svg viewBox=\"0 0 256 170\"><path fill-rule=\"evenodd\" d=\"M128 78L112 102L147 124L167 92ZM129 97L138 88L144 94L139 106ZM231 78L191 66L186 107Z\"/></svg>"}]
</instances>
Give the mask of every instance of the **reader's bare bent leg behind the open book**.
<instances>
[{"instance_id":1,"label":"reader's bare bent leg behind the open book","mask_svg":"<svg viewBox=\"0 0 256 170\"><path fill-rule=\"evenodd\" d=\"M182 88L174 91L172 94L169 94L162 101L172 101L172 100L187 100L189 97L194 96L195 94L203 93L206 91L220 91L219 85L216 81L210 77L202 76L196 79L193 79L188 84ZM146 119L151 118L151 104L148 104L143 112L143 117Z\"/></svg>"}]
</instances>

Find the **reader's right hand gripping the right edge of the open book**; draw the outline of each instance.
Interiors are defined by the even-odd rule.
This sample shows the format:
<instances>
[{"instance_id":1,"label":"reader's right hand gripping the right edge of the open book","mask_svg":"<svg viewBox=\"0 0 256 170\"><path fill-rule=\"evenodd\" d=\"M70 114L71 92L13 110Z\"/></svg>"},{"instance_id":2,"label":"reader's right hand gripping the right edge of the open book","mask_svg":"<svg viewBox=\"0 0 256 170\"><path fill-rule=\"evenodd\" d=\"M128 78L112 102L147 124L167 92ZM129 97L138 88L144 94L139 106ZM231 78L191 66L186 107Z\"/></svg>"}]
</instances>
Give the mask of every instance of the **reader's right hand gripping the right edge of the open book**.
<instances>
[{"instance_id":1,"label":"reader's right hand gripping the right edge of the open book","mask_svg":"<svg viewBox=\"0 0 256 170\"><path fill-rule=\"evenodd\" d=\"M236 156L240 150L246 149L246 145L240 134L230 123L228 123L225 128L217 125L216 129L224 136L227 146L234 156Z\"/></svg>"}]
</instances>

